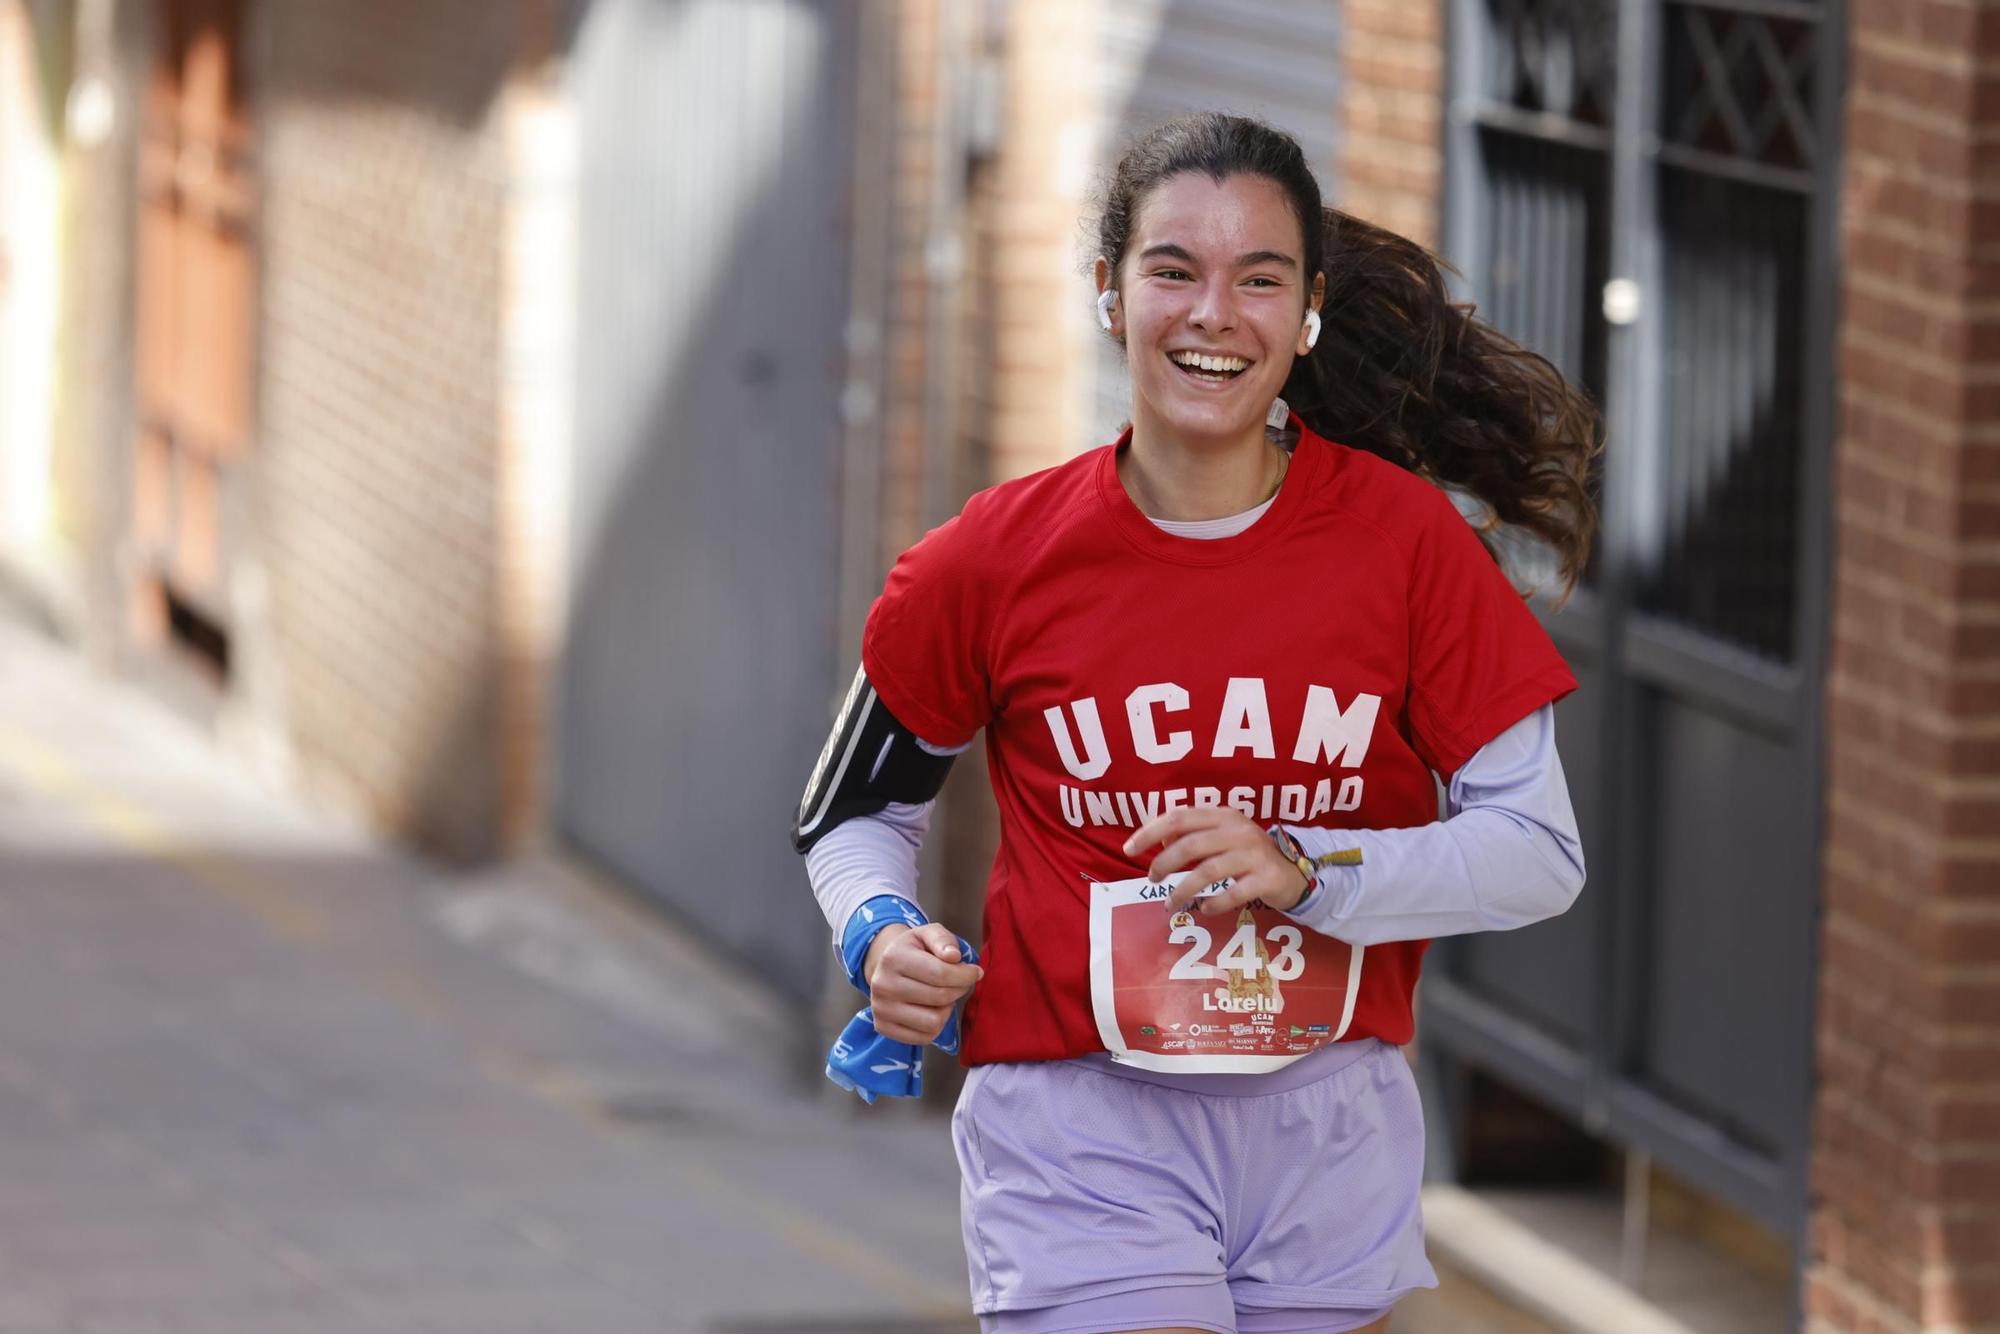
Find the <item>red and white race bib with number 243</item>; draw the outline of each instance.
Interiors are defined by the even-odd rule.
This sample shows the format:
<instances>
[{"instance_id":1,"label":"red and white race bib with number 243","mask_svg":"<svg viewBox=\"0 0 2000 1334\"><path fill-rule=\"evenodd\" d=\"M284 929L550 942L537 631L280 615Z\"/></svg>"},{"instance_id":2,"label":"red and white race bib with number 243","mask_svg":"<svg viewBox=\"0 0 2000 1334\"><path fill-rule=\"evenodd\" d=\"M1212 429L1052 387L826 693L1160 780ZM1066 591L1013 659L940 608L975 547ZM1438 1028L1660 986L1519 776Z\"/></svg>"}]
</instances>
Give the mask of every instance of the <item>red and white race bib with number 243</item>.
<instances>
[{"instance_id":1,"label":"red and white race bib with number 243","mask_svg":"<svg viewBox=\"0 0 2000 1334\"><path fill-rule=\"evenodd\" d=\"M1090 1008L1114 1060L1252 1074L1288 1066L1354 1020L1362 946L1262 904L1204 918L1164 904L1180 876L1090 884ZM1230 886L1220 880L1196 900Z\"/></svg>"}]
</instances>

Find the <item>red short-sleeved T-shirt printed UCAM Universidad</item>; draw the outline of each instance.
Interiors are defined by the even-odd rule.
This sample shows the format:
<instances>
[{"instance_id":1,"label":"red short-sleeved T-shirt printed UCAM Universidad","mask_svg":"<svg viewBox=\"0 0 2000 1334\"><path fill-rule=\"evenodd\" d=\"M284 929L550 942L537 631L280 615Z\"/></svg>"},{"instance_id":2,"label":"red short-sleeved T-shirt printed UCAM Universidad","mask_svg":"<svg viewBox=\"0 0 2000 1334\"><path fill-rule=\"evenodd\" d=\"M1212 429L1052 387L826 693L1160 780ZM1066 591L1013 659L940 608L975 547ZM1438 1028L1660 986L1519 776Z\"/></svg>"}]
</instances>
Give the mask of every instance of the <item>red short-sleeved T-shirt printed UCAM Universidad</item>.
<instances>
[{"instance_id":1,"label":"red short-sleeved T-shirt printed UCAM Universidad","mask_svg":"<svg viewBox=\"0 0 2000 1334\"><path fill-rule=\"evenodd\" d=\"M1000 852L964 1062L1102 1050L1092 880L1146 874L1134 828L1182 804L1258 824L1408 828L1432 770L1576 688L1450 498L1302 432L1230 538L1162 532L1118 440L966 502L890 570L862 666L938 746L986 728ZM1408 1042L1428 940L1370 946L1354 1038Z\"/></svg>"}]
</instances>

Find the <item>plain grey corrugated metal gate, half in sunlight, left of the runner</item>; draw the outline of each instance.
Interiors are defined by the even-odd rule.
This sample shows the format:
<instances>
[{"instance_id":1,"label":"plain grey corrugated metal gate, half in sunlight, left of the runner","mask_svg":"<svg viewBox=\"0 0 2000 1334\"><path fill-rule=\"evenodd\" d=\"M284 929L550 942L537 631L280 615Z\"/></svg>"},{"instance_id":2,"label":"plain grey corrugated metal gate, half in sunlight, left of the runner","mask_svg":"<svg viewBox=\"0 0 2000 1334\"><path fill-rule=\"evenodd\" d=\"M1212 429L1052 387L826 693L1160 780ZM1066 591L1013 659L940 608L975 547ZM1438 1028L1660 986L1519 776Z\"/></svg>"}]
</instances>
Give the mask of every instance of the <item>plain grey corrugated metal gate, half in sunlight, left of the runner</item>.
<instances>
[{"instance_id":1,"label":"plain grey corrugated metal gate, half in sunlight, left of the runner","mask_svg":"<svg viewBox=\"0 0 2000 1334\"><path fill-rule=\"evenodd\" d=\"M834 672L852 4L598 0L558 822L818 990L786 838Z\"/></svg>"}]
</instances>

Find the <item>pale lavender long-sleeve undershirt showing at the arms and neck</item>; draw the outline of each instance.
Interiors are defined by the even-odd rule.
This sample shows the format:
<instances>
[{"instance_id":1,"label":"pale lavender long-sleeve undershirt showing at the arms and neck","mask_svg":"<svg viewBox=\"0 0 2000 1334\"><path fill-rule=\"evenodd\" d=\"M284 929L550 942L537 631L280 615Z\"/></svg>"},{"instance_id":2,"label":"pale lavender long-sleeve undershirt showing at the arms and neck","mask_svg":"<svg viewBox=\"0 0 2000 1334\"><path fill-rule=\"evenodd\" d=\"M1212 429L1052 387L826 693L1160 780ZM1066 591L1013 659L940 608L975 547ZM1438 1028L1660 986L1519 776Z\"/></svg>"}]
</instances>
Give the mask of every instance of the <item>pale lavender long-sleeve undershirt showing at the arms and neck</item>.
<instances>
[{"instance_id":1,"label":"pale lavender long-sleeve undershirt showing at the arms and neck","mask_svg":"<svg viewBox=\"0 0 2000 1334\"><path fill-rule=\"evenodd\" d=\"M1218 520L1154 520L1186 538L1242 532L1270 506ZM958 754L924 746L936 754ZM878 894L916 902L916 852L932 802L890 804L828 830L806 854L806 876L838 948L848 918ZM1508 930L1564 912L1584 886L1570 788L1544 704L1480 746L1452 774L1446 818L1402 830L1286 826L1314 854L1360 848L1360 866L1328 866L1292 908L1300 924L1350 944Z\"/></svg>"}]
</instances>

